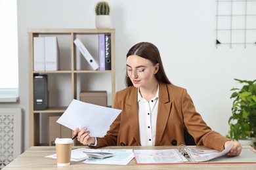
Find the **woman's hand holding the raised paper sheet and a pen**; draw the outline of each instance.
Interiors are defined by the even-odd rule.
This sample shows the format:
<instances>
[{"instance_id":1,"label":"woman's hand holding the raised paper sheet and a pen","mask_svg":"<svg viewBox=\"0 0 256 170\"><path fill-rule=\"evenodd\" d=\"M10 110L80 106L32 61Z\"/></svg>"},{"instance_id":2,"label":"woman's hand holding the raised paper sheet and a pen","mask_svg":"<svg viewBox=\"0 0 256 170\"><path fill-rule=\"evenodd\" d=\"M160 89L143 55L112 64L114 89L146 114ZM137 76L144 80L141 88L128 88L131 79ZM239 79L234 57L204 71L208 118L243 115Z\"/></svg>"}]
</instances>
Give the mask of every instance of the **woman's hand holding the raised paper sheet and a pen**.
<instances>
[{"instance_id":1,"label":"woman's hand holding the raised paper sheet and a pen","mask_svg":"<svg viewBox=\"0 0 256 170\"><path fill-rule=\"evenodd\" d=\"M79 131L79 128L76 127L74 135L77 135L77 141L79 141L82 144L95 144L95 137L90 137L90 131L87 131L87 127L83 127L81 131Z\"/></svg>"}]
</instances>

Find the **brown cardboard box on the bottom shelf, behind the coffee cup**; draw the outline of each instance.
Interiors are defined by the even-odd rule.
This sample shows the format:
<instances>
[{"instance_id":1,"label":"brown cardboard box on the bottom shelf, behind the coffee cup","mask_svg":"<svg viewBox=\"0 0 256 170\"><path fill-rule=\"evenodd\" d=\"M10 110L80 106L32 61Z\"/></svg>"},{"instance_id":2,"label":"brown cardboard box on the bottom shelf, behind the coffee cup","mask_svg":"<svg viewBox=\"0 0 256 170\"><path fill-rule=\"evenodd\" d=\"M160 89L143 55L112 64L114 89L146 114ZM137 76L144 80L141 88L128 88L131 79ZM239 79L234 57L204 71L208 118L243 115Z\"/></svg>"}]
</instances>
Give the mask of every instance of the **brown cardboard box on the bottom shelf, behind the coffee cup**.
<instances>
[{"instance_id":1,"label":"brown cardboard box on the bottom shelf, behind the coffee cup","mask_svg":"<svg viewBox=\"0 0 256 170\"><path fill-rule=\"evenodd\" d=\"M56 122L60 116L49 116L49 145L55 146L55 139L72 138L72 129L62 126Z\"/></svg>"}]
</instances>

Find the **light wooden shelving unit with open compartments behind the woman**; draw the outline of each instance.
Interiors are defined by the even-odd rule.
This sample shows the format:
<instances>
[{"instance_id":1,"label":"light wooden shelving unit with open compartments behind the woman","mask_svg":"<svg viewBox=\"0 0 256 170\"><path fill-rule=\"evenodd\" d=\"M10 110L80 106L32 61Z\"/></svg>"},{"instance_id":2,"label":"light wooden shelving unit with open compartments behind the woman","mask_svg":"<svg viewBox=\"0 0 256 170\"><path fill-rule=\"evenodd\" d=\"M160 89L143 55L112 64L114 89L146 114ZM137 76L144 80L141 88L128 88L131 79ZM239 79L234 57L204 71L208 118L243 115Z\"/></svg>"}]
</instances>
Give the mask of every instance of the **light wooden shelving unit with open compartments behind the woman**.
<instances>
[{"instance_id":1,"label":"light wooden shelving unit with open compartments behind the woman","mask_svg":"<svg viewBox=\"0 0 256 170\"><path fill-rule=\"evenodd\" d=\"M98 34L108 33L111 36L111 70L92 70L86 59L83 58L74 44L79 38L92 56L98 56ZM79 93L87 90L106 90L108 105L112 105L116 93L116 56L115 56L115 29L28 29L29 39L29 92L30 92L30 146L40 146L49 143L41 137L42 131L48 129L50 116L61 115L67 109L72 99L79 99ZM58 71L33 70L33 38L56 37L60 67ZM34 84L35 75L47 75L49 91L49 108L35 110ZM104 86L102 86L104 84ZM106 84L106 86L105 86ZM109 99L111 97L111 100ZM64 107L65 106L65 107ZM49 131L47 131L49 133ZM70 133L72 135L72 133Z\"/></svg>"}]
</instances>

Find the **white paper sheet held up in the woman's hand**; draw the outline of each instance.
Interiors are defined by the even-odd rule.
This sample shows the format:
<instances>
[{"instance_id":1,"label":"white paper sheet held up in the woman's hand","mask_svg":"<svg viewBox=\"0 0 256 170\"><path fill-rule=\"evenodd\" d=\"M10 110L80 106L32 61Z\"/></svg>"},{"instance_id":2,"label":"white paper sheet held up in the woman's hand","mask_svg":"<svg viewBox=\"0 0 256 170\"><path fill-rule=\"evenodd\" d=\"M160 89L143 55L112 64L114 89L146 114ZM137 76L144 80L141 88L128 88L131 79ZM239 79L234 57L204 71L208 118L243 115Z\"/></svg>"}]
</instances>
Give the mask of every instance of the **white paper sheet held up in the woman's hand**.
<instances>
[{"instance_id":1,"label":"white paper sheet held up in the woman's hand","mask_svg":"<svg viewBox=\"0 0 256 170\"><path fill-rule=\"evenodd\" d=\"M102 107L73 99L56 121L72 130L87 127L92 137L104 137L121 110Z\"/></svg>"}]
</instances>

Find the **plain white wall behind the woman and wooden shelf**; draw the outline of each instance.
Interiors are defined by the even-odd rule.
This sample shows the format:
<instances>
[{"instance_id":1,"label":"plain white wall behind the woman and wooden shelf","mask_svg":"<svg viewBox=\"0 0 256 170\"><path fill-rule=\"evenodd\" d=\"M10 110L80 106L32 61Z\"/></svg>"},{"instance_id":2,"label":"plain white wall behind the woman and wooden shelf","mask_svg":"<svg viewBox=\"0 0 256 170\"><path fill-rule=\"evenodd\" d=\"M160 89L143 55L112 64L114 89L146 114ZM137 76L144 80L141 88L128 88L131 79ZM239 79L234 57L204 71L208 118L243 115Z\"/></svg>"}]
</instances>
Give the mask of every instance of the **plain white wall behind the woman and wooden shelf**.
<instances>
[{"instance_id":1,"label":"plain white wall behind the woman and wooden shelf","mask_svg":"<svg viewBox=\"0 0 256 170\"><path fill-rule=\"evenodd\" d=\"M20 106L25 112L24 149L29 146L28 28L95 28L96 0L18 1ZM190 93L196 109L213 130L228 132L233 78L256 78L256 46L215 46L216 1L109 0L116 29L117 90L133 44L158 46L173 84Z\"/></svg>"}]
</instances>

